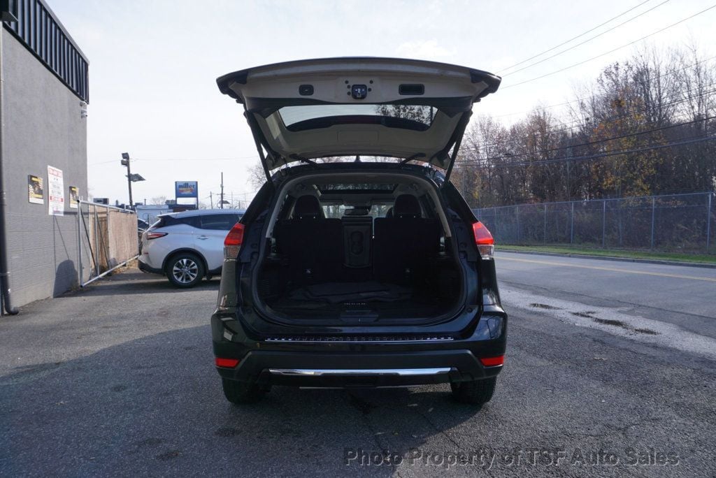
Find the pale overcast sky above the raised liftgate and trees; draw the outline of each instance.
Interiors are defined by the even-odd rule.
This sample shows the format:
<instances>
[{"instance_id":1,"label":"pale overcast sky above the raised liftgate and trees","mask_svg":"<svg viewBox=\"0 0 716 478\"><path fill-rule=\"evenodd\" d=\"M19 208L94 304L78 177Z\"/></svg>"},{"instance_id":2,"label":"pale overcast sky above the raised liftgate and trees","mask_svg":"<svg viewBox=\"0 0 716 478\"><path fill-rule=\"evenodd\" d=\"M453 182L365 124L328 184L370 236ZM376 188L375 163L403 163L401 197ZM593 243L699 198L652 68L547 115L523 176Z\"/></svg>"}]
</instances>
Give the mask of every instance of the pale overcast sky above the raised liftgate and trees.
<instances>
[{"instance_id":1,"label":"pale overcast sky above the raised liftgate and trees","mask_svg":"<svg viewBox=\"0 0 716 478\"><path fill-rule=\"evenodd\" d=\"M237 69L377 56L503 74L628 9L637 7L521 67L653 9L569 52L505 75L500 91L476 104L475 113L510 121L520 116L503 115L571 99L575 87L644 44L664 48L695 41L702 57L715 54L716 8L644 42L511 86L652 34L715 0L47 1L89 58L89 193L112 202L127 201L122 152L135 160L132 172L146 178L133 187L135 201L173 197L175 180L198 180L201 200L208 203L209 192L219 190L221 171L227 195L251 197L247 169L258 161L256 149L241 105L216 87L216 77Z\"/></svg>"}]
</instances>

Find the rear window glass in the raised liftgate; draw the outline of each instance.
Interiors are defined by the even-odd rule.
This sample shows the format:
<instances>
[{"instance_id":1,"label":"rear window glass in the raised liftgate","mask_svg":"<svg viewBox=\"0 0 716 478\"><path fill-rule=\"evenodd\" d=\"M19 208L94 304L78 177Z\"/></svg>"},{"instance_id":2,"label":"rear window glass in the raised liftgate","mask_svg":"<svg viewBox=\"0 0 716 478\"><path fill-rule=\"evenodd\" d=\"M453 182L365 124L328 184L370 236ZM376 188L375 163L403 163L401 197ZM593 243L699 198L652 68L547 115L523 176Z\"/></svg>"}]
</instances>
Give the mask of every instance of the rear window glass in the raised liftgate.
<instances>
[{"instance_id":1,"label":"rear window glass in the raised liftgate","mask_svg":"<svg viewBox=\"0 0 716 478\"><path fill-rule=\"evenodd\" d=\"M421 125L432 125L437 109L422 104L306 104L279 108L284 125L338 117L384 117L407 119Z\"/></svg>"}]
</instances>

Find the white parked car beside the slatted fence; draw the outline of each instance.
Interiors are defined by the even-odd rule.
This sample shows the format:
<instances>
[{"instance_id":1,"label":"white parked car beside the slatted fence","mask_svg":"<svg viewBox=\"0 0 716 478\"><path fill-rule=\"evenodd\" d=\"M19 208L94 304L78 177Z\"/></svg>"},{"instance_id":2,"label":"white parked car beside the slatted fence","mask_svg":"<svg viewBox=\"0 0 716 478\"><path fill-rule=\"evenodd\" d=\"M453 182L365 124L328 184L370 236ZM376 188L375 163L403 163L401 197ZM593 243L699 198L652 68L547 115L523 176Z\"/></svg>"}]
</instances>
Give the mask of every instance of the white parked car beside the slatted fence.
<instances>
[{"instance_id":1,"label":"white parked car beside the slatted fence","mask_svg":"<svg viewBox=\"0 0 716 478\"><path fill-rule=\"evenodd\" d=\"M224 238L243 213L204 209L160 215L142 234L140 270L166 275L170 283L183 288L220 274Z\"/></svg>"}]
</instances>

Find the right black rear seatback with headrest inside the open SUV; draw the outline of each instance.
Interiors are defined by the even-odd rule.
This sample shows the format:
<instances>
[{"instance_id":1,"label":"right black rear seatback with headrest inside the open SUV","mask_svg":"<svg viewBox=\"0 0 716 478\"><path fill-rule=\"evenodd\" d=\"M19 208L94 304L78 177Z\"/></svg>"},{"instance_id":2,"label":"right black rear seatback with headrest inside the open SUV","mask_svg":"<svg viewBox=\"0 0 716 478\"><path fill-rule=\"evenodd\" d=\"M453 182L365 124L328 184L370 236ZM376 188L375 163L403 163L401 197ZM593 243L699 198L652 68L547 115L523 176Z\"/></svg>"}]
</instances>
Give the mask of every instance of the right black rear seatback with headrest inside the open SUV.
<instances>
[{"instance_id":1,"label":"right black rear seatback with headrest inside the open SUV","mask_svg":"<svg viewBox=\"0 0 716 478\"><path fill-rule=\"evenodd\" d=\"M374 271L377 280L410 284L424 281L429 258L440 250L440 223L422 218L417 197L395 198L392 218L374 221Z\"/></svg>"}]
</instances>

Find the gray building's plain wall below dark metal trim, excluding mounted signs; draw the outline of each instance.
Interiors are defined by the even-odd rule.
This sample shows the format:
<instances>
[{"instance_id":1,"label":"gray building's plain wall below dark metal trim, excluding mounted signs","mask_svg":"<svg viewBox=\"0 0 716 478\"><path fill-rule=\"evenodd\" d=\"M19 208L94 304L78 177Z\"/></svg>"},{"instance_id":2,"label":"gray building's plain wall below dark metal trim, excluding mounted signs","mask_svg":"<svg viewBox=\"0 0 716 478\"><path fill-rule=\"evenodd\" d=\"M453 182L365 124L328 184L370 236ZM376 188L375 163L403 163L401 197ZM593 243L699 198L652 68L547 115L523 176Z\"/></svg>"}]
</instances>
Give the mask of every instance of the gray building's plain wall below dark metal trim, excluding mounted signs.
<instances>
[{"instance_id":1,"label":"gray building's plain wall below dark metal trim, excluding mounted signs","mask_svg":"<svg viewBox=\"0 0 716 478\"><path fill-rule=\"evenodd\" d=\"M69 187L87 197L86 105L9 31L0 27L0 34L10 286L13 305L22 306L77 286L77 209L69 207ZM63 172L64 216L48 213L48 165ZM29 203L28 175L43 178L44 204Z\"/></svg>"}]
</instances>

